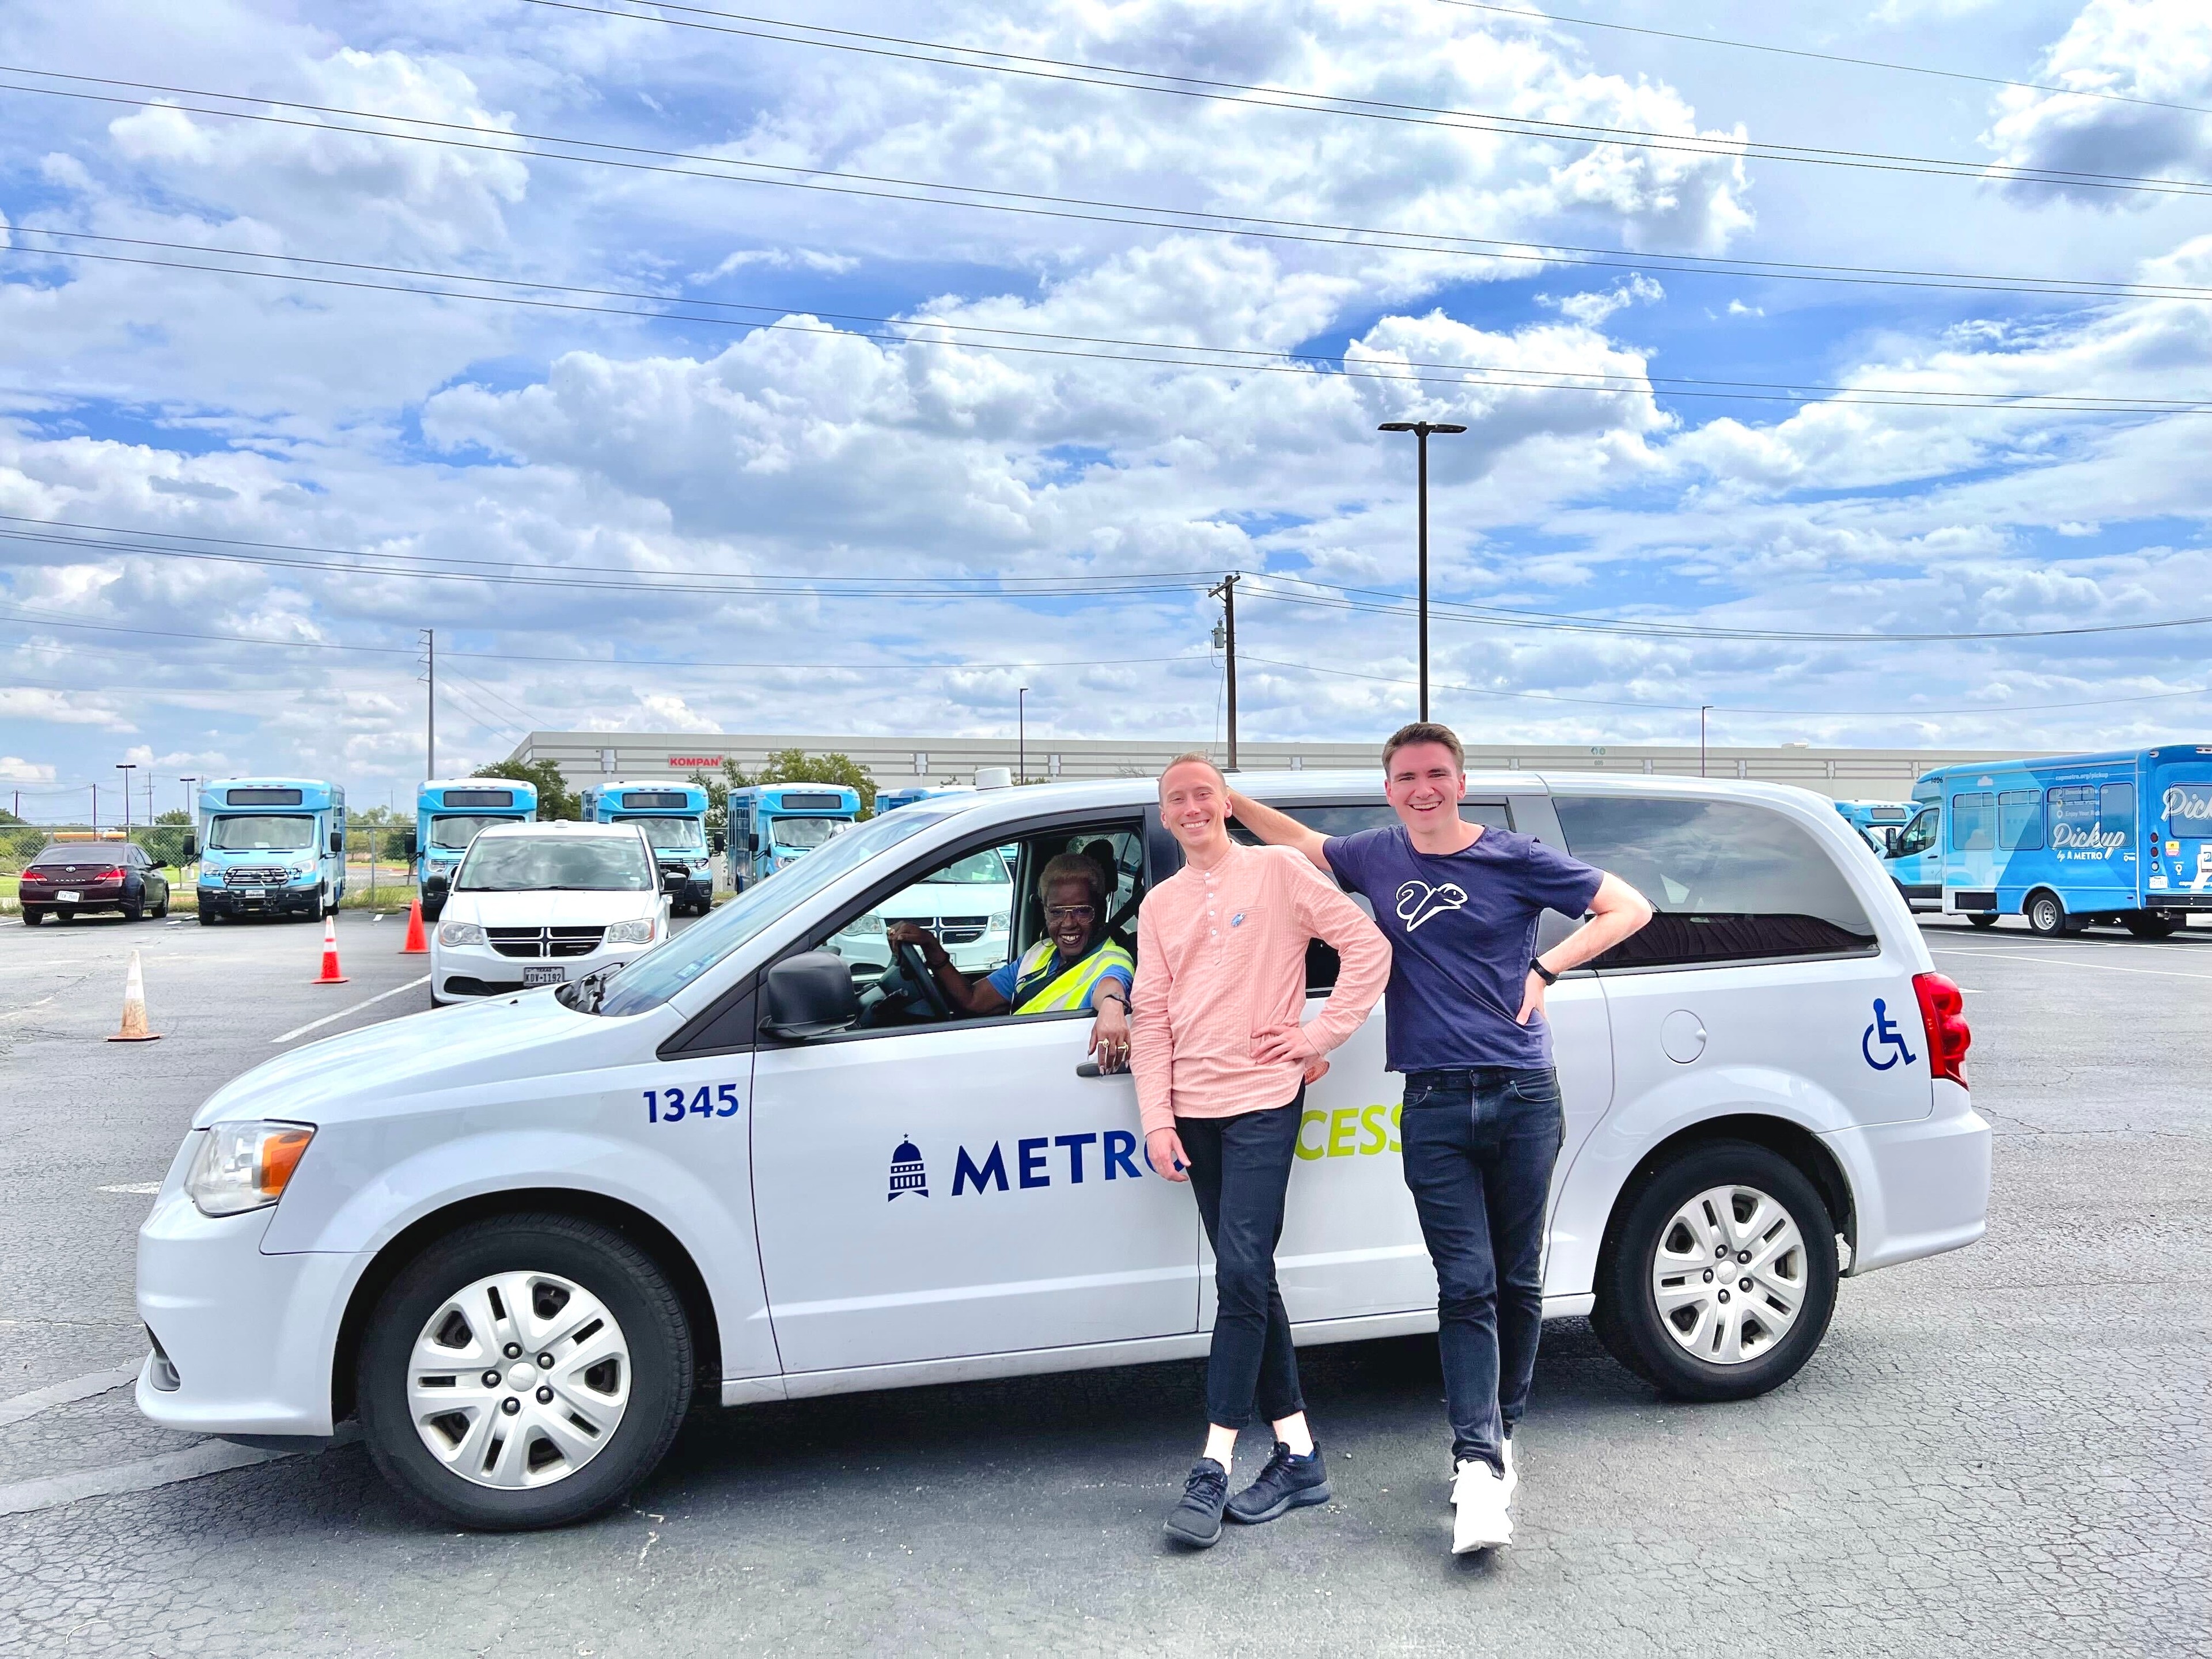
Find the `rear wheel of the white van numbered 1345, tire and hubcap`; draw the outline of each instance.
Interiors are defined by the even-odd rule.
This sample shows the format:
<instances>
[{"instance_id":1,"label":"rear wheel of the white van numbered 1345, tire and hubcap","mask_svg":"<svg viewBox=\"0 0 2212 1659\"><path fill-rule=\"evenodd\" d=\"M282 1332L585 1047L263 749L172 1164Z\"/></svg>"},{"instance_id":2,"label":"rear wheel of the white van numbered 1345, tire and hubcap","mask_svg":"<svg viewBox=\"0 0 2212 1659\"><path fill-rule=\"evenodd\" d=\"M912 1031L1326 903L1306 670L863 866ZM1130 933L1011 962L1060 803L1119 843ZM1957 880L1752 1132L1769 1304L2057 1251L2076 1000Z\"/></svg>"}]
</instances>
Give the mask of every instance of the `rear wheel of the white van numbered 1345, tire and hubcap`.
<instances>
[{"instance_id":1,"label":"rear wheel of the white van numbered 1345, tire and hubcap","mask_svg":"<svg viewBox=\"0 0 2212 1659\"><path fill-rule=\"evenodd\" d=\"M1761 1206L1770 1212L1761 1214ZM1745 1265L1743 1248L1756 1267L1761 1248L1745 1225L1770 1250L1781 1225L1794 1228L1794 1243L1781 1234L1785 1248L1750 1296L1741 1290L1750 1274L1730 1285L1710 1279L1719 1259L1705 1263L1705 1252L1721 1248L1705 1239L1719 1237L1736 1252L1730 1270ZM1674 1259L1683 1270L1663 1272ZM1750 1141L1705 1141L1652 1170L1632 1192L1597 1283L1590 1325L1621 1365L1679 1400L1750 1400L1796 1376L1827 1334L1836 1312L1836 1225L1790 1159ZM1666 1314L1663 1283L1672 1287Z\"/></svg>"}]
</instances>

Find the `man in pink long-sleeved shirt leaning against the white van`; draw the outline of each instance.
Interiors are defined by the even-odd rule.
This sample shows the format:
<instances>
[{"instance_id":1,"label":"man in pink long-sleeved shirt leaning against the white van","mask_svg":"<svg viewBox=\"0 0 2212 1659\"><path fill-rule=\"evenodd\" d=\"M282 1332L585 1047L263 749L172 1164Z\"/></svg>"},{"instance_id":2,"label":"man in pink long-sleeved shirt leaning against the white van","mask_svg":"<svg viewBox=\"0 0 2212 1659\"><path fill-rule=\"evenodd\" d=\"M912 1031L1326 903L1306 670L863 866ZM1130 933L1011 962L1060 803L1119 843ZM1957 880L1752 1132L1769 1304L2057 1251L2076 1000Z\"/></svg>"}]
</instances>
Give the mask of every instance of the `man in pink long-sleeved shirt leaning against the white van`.
<instances>
[{"instance_id":1,"label":"man in pink long-sleeved shirt leaning against the white van","mask_svg":"<svg viewBox=\"0 0 2212 1659\"><path fill-rule=\"evenodd\" d=\"M1159 774L1159 816L1183 845L1183 867L1137 911L1130 998L1146 1157L1192 1183L1214 1248L1206 1451L1166 1524L1192 1548L1221 1537L1223 1509L1256 1524L1329 1498L1274 1245L1305 1084L1321 1079L1323 1055L1358 1031L1389 980L1389 945L1358 905L1298 854L1230 841L1228 799L1206 757ZM1305 947L1316 938L1336 947L1343 969L1321 1015L1301 1024ZM1230 1455L1254 1405L1274 1425L1274 1455L1230 1498Z\"/></svg>"}]
</instances>

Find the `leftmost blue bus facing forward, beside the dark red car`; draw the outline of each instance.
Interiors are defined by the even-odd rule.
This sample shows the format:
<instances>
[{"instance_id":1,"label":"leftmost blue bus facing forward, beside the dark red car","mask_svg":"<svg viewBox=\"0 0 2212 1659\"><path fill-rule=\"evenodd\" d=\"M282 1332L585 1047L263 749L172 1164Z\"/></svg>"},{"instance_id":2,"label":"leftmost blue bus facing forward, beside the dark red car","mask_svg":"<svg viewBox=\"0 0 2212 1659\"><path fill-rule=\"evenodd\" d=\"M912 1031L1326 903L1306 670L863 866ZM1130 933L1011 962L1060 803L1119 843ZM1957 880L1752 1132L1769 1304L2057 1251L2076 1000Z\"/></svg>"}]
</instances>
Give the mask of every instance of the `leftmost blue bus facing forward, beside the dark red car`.
<instances>
[{"instance_id":1,"label":"leftmost blue bus facing forward, beside the dark red car","mask_svg":"<svg viewBox=\"0 0 2212 1659\"><path fill-rule=\"evenodd\" d=\"M199 790L199 925L316 922L345 898L345 790L321 779L210 779Z\"/></svg>"}]
</instances>

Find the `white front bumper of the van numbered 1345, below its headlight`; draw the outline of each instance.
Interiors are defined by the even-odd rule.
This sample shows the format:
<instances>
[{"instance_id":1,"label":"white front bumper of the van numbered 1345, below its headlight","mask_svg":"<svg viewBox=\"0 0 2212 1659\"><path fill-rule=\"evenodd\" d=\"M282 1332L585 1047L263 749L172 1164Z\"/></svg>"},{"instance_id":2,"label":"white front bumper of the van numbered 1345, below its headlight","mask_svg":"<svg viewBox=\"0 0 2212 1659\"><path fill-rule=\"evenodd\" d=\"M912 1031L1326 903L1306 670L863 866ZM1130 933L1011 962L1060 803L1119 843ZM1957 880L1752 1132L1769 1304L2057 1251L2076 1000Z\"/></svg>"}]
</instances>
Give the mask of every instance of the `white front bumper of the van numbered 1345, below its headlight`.
<instances>
[{"instance_id":1,"label":"white front bumper of the van numbered 1345, below its headlight","mask_svg":"<svg viewBox=\"0 0 2212 1659\"><path fill-rule=\"evenodd\" d=\"M265 1256L274 1214L204 1217L170 1188L139 1228L137 1312L159 1354L139 1371L137 1407L161 1427L332 1431L338 1321L367 1256Z\"/></svg>"}]
</instances>

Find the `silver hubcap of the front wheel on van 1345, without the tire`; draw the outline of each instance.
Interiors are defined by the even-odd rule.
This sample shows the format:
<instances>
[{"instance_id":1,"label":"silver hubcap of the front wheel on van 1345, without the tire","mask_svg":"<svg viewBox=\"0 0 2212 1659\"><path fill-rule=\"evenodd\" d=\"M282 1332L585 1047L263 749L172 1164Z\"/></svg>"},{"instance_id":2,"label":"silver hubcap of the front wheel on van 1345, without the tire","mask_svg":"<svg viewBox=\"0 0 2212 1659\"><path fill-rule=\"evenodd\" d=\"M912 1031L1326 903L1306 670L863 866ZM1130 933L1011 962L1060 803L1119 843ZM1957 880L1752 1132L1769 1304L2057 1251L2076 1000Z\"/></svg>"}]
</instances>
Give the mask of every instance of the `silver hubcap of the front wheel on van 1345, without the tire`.
<instances>
[{"instance_id":1,"label":"silver hubcap of the front wheel on van 1345, without the tire","mask_svg":"<svg viewBox=\"0 0 2212 1659\"><path fill-rule=\"evenodd\" d=\"M502 1491L573 1475L628 1402L622 1325L560 1274L478 1279L429 1316L407 1367L407 1413L429 1453Z\"/></svg>"}]
</instances>

